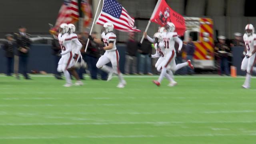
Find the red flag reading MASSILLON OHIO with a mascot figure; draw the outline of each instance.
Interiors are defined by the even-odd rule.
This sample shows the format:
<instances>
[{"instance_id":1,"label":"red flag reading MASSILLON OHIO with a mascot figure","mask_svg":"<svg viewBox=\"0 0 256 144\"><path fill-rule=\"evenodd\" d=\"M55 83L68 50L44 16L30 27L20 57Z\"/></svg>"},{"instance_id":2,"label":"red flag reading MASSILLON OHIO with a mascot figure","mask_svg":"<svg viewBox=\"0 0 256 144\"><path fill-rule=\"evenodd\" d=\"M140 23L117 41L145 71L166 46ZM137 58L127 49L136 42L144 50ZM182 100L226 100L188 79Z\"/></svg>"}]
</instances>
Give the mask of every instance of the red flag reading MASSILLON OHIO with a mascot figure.
<instances>
[{"instance_id":1,"label":"red flag reading MASSILLON OHIO with a mascot figure","mask_svg":"<svg viewBox=\"0 0 256 144\"><path fill-rule=\"evenodd\" d=\"M165 26L167 22L172 22L176 28L175 32L177 32L179 36L183 36L186 30L183 16L172 10L165 0L158 0L150 21L160 26Z\"/></svg>"}]
</instances>

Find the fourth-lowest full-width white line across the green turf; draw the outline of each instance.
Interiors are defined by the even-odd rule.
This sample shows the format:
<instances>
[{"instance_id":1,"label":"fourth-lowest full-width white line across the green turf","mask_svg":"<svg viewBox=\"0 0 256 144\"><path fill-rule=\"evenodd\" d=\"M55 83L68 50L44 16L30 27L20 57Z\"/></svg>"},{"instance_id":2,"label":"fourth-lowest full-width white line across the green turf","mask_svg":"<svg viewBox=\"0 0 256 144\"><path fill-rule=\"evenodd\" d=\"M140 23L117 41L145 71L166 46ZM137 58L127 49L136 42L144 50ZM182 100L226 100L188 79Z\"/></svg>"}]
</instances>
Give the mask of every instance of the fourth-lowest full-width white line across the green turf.
<instances>
[{"instance_id":1,"label":"fourth-lowest full-width white line across the green turf","mask_svg":"<svg viewBox=\"0 0 256 144\"><path fill-rule=\"evenodd\" d=\"M152 103L152 104L0 104L0 107L46 107L46 106L59 106L59 107L76 107L76 106L173 106L173 105L256 105L256 103Z\"/></svg>"}]
</instances>

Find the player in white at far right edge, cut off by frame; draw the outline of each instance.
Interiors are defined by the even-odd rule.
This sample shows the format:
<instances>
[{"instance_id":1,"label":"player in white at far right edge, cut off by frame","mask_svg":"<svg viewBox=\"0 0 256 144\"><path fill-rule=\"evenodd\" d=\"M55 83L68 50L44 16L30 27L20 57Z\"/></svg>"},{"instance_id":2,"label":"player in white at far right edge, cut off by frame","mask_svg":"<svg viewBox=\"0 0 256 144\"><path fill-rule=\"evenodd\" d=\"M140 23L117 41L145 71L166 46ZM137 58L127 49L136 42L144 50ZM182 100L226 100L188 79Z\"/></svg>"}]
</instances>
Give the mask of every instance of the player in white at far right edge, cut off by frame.
<instances>
[{"instance_id":1,"label":"player in white at far right edge, cut off by frame","mask_svg":"<svg viewBox=\"0 0 256 144\"><path fill-rule=\"evenodd\" d=\"M245 27L244 34L245 48L243 54L245 55L241 70L246 71L246 78L243 88L250 88L250 80L253 71L256 71L256 67L253 67L256 62L255 52L256 52L256 34L254 34L254 27L252 24L247 24Z\"/></svg>"}]
</instances>

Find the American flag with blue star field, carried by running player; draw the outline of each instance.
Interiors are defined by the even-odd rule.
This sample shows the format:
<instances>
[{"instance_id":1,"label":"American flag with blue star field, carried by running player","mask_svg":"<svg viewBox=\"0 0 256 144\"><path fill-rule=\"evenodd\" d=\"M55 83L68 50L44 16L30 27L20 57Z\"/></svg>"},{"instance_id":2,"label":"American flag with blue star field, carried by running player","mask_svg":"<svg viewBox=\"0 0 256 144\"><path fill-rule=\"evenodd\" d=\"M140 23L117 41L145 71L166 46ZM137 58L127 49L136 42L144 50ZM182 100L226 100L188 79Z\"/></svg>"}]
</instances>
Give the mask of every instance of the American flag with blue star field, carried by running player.
<instances>
[{"instance_id":1,"label":"American flag with blue star field, carried by running player","mask_svg":"<svg viewBox=\"0 0 256 144\"><path fill-rule=\"evenodd\" d=\"M140 32L134 27L134 18L116 0L103 0L103 7L96 24L104 25L106 22L114 24L116 30L124 32Z\"/></svg>"}]
</instances>

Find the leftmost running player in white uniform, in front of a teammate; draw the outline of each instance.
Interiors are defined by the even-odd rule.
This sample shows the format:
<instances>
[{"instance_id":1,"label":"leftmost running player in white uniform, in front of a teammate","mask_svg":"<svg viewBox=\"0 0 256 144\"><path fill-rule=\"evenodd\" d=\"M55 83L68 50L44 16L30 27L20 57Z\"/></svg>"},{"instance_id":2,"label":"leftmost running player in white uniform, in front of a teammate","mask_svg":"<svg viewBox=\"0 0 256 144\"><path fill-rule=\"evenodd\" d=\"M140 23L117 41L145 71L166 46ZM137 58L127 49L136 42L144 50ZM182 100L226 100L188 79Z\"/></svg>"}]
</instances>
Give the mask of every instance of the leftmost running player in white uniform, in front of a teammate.
<instances>
[{"instance_id":1,"label":"leftmost running player in white uniform, in front of a teammate","mask_svg":"<svg viewBox=\"0 0 256 144\"><path fill-rule=\"evenodd\" d=\"M66 78L66 84L64 84L65 87L72 86L70 74L68 72L68 68L71 67L71 61L73 59L72 54L72 43L70 42L70 38L68 36L68 24L60 24L59 34L58 34L58 40L61 47L61 58L58 62L58 72L63 72L64 76Z\"/></svg>"}]
</instances>

